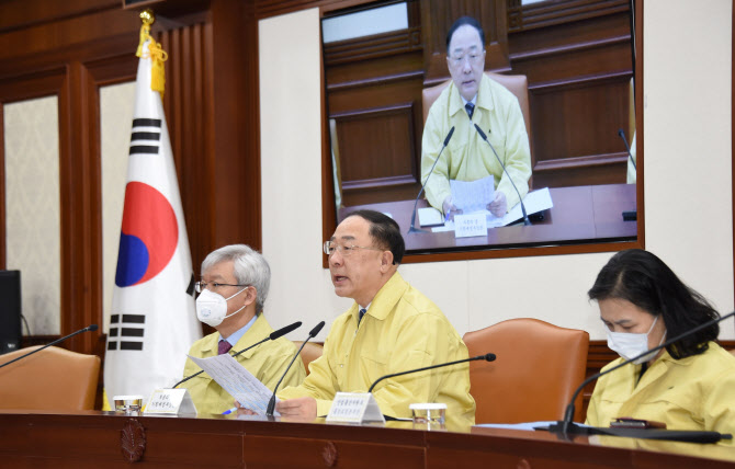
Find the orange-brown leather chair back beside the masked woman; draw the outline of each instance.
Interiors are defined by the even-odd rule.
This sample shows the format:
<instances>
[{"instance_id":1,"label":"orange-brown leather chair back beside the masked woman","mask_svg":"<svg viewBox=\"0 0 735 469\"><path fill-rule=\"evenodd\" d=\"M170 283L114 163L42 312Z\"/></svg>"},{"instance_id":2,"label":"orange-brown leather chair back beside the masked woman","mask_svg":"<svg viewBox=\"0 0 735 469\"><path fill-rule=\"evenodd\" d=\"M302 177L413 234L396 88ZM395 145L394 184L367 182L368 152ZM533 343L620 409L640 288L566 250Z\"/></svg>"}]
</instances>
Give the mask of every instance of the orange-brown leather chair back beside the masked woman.
<instances>
[{"instance_id":1,"label":"orange-brown leather chair back beside the masked woman","mask_svg":"<svg viewBox=\"0 0 735 469\"><path fill-rule=\"evenodd\" d=\"M470 356L491 352L495 362L470 364L470 392L479 423L561 420L585 379L589 334L520 318L464 334ZM581 393L575 421L583 420Z\"/></svg>"}]
</instances>

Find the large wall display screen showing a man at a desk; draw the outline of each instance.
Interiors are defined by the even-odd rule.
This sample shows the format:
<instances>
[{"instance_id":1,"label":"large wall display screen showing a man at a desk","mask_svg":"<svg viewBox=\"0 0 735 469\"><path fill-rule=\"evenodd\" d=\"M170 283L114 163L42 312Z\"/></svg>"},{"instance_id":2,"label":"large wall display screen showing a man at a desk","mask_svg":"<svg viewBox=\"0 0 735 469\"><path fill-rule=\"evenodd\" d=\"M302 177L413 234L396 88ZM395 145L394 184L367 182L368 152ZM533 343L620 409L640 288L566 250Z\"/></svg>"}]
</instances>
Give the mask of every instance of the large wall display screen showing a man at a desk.
<instances>
[{"instance_id":1,"label":"large wall display screen showing a man at a desk","mask_svg":"<svg viewBox=\"0 0 735 469\"><path fill-rule=\"evenodd\" d=\"M567 3L325 14L325 216L383 211L409 255L635 242L634 5ZM484 52L462 28L449 35L462 15ZM487 79L473 91L477 69ZM461 108L473 95L476 115Z\"/></svg>"}]
</instances>

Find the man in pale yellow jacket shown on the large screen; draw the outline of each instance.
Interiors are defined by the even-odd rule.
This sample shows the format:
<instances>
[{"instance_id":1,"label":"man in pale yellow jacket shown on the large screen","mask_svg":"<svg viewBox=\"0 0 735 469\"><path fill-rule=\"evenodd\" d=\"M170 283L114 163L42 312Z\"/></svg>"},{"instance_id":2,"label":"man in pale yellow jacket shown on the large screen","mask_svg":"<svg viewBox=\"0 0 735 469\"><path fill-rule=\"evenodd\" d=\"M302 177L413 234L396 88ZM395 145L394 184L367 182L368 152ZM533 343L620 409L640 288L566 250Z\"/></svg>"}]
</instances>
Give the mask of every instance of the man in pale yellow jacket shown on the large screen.
<instances>
[{"instance_id":1,"label":"man in pale yellow jacket shown on the large screen","mask_svg":"<svg viewBox=\"0 0 735 469\"><path fill-rule=\"evenodd\" d=\"M446 66L452 82L431 106L423 128L421 181L429 176L450 128L455 130L426 185L427 198L444 214L455 211L450 180L476 181L493 175L495 198L487 209L501 217L518 204L518 194L474 124L487 135L524 196L531 178L531 151L518 99L484 73L485 33L473 18L460 18L449 30Z\"/></svg>"}]
</instances>

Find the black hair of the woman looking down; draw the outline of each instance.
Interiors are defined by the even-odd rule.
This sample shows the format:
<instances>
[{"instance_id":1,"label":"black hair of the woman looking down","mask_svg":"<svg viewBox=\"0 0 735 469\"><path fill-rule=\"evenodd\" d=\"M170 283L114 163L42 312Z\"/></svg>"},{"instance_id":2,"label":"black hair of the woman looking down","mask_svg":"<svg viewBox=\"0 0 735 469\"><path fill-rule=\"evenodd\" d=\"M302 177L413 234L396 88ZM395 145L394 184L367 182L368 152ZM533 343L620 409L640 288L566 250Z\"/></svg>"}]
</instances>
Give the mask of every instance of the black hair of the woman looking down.
<instances>
[{"instance_id":1,"label":"black hair of the woman looking down","mask_svg":"<svg viewBox=\"0 0 735 469\"><path fill-rule=\"evenodd\" d=\"M588 291L589 299L624 299L652 316L660 314L668 339L675 338L720 313L699 293L689 288L656 255L641 249L620 251L600 271ZM666 347L679 359L704 353L708 342L720 334L712 324Z\"/></svg>"}]
</instances>

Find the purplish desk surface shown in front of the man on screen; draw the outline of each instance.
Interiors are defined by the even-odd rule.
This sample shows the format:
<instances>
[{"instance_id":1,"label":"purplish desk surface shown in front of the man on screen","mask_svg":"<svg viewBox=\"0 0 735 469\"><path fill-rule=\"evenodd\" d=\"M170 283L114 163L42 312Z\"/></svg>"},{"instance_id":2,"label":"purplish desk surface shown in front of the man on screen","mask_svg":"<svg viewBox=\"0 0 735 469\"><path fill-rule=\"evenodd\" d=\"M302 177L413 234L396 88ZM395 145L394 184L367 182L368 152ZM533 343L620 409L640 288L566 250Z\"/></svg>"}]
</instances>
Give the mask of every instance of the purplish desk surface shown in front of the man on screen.
<instances>
[{"instance_id":1,"label":"purplish desk surface shown in front of the man on screen","mask_svg":"<svg viewBox=\"0 0 735 469\"><path fill-rule=\"evenodd\" d=\"M636 239L637 221L623 220L622 216L623 211L636 209L635 184L550 187L549 192L554 206L541 213L542 220L533 221L532 226L520 224L490 228L486 237L455 238L454 231L409 233L415 201L344 207L339 210L338 221L350 213L364 208L389 214L400 226L406 250L417 253L622 242ZM418 202L418 208L427 206L426 199ZM416 227L419 228L418 216Z\"/></svg>"}]
</instances>

